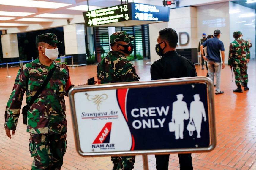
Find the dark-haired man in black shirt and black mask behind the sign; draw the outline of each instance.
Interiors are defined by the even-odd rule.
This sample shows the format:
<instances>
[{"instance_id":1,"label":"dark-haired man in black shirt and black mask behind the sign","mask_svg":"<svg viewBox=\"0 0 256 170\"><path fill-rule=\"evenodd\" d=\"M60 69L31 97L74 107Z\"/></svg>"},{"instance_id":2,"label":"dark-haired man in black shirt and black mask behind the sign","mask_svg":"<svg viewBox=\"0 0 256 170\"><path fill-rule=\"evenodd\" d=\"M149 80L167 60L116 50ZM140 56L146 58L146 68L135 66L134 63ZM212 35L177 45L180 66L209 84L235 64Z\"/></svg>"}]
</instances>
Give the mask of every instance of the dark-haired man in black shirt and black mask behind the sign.
<instances>
[{"instance_id":1,"label":"dark-haired man in black shirt and black mask behind the sign","mask_svg":"<svg viewBox=\"0 0 256 170\"><path fill-rule=\"evenodd\" d=\"M151 80L197 76L194 64L175 51L177 43L178 35L175 30L165 28L159 31L156 52L162 58L151 65ZM170 155L155 155L155 157L157 170L168 170ZM191 153L178 154L178 157L180 170L193 169Z\"/></svg>"}]
</instances>

